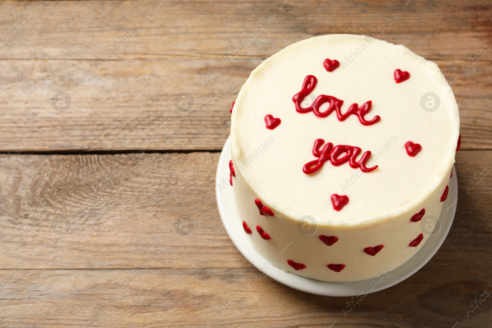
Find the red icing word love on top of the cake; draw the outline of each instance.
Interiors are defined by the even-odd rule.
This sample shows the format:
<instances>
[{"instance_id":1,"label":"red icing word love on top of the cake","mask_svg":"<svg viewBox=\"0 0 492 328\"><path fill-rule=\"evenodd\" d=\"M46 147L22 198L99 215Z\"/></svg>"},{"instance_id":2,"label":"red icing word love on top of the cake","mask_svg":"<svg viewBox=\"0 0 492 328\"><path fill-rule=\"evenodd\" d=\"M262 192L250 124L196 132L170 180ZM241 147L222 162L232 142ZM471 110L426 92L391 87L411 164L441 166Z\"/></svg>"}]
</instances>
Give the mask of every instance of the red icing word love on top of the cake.
<instances>
[{"instance_id":1,"label":"red icing word love on top of the cake","mask_svg":"<svg viewBox=\"0 0 492 328\"><path fill-rule=\"evenodd\" d=\"M366 120L364 116L370 111L372 101L367 101L365 102L361 107L357 103L354 103L350 105L348 108L348 111L345 114L341 113L341 105L343 104L343 100L337 99L333 96L328 96L326 94L321 94L316 97L316 99L312 102L311 106L302 108L301 103L303 102L304 98L306 98L309 93L316 87L316 83L318 83L318 80L314 75L307 75L306 78L304 79L303 86L301 91L296 93L292 97L292 101L296 105L296 111L298 113L309 113L309 112L314 112L314 115L320 118L325 118L328 115L330 115L333 111L337 113L337 118L339 121L343 121L347 119L350 115L356 115L359 118L359 121L364 124L364 125L372 125L376 122L379 122L381 119L379 116L374 116L373 119L371 120ZM328 109L321 113L319 111L319 108L321 105L324 103L329 103Z\"/></svg>"}]
</instances>

